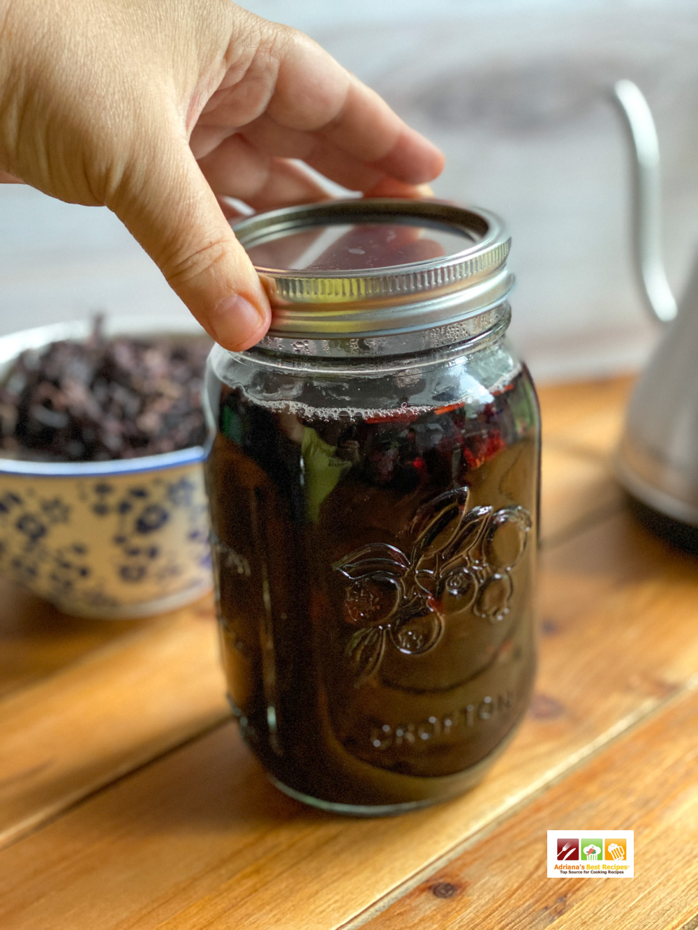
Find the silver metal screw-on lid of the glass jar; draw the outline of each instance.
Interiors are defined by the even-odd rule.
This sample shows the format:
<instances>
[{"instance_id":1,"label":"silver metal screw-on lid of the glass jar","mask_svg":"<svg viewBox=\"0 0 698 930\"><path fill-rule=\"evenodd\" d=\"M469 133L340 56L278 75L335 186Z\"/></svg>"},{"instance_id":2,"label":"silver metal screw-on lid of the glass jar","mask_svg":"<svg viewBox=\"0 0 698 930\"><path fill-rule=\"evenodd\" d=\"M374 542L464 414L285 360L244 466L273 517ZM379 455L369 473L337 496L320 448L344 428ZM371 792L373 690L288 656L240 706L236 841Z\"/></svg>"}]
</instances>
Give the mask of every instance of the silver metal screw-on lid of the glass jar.
<instances>
[{"instance_id":1,"label":"silver metal screw-on lid of the glass jar","mask_svg":"<svg viewBox=\"0 0 698 930\"><path fill-rule=\"evenodd\" d=\"M267 348L301 339L310 354L335 354L327 343L471 318L468 331L477 331L488 321L474 318L501 305L514 283L503 221L443 201L330 200L262 213L234 229L274 310L260 343Z\"/></svg>"}]
</instances>

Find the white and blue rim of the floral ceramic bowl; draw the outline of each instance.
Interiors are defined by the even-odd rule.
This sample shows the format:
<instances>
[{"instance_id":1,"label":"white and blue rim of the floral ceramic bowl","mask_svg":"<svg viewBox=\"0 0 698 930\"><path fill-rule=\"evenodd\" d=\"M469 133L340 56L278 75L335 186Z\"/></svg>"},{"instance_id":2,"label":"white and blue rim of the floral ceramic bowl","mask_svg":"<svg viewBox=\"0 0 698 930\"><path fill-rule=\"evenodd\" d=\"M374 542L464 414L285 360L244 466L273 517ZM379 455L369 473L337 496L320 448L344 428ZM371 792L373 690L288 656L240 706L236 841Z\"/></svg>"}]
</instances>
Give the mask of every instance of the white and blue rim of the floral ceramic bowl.
<instances>
[{"instance_id":1,"label":"white and blue rim of the floral ceramic bowl","mask_svg":"<svg viewBox=\"0 0 698 930\"><path fill-rule=\"evenodd\" d=\"M11 362L27 349L41 349L49 342L60 339L85 339L92 330L92 320L71 320L20 329L16 333L0 336L0 378ZM107 336L202 336L206 331L194 317L175 318L165 315L109 316L104 317ZM112 458L91 462L41 462L0 455L0 475L20 475L44 478L89 478L104 475L159 472L203 462L208 456L210 437L204 445L191 445L176 452L160 452L141 458Z\"/></svg>"}]
</instances>

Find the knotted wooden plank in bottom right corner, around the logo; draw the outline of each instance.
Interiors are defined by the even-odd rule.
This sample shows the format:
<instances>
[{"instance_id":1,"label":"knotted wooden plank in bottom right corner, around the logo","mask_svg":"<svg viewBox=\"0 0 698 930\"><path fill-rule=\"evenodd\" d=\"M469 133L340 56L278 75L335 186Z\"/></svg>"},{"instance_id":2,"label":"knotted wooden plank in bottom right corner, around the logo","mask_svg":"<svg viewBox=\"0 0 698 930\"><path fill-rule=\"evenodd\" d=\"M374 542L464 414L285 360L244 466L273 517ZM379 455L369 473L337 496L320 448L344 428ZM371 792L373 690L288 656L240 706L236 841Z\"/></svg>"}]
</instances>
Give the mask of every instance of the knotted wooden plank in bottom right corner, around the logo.
<instances>
[{"instance_id":1,"label":"knotted wooden plank in bottom right corner, around the logo","mask_svg":"<svg viewBox=\"0 0 698 930\"><path fill-rule=\"evenodd\" d=\"M698 921L695 686L401 897L367 930L679 930ZM548 879L546 830L635 830L635 878Z\"/></svg>"}]
</instances>

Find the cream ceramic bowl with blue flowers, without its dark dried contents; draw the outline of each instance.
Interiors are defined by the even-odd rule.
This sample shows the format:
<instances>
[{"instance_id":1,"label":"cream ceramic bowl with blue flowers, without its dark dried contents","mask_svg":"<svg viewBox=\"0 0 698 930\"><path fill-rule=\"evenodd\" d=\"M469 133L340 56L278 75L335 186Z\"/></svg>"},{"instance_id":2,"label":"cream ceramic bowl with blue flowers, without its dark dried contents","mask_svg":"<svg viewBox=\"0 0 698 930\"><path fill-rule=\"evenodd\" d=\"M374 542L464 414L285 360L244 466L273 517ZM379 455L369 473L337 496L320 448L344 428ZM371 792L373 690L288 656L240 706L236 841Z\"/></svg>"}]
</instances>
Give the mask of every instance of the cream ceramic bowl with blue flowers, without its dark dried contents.
<instances>
[{"instance_id":1,"label":"cream ceramic bowl with blue flowers, without its dark dried contents","mask_svg":"<svg viewBox=\"0 0 698 930\"><path fill-rule=\"evenodd\" d=\"M0 378L25 349L84 339L87 321L0 338ZM108 336L201 335L163 318L107 320ZM101 462L0 458L0 574L68 614L139 618L212 585L201 446Z\"/></svg>"}]
</instances>

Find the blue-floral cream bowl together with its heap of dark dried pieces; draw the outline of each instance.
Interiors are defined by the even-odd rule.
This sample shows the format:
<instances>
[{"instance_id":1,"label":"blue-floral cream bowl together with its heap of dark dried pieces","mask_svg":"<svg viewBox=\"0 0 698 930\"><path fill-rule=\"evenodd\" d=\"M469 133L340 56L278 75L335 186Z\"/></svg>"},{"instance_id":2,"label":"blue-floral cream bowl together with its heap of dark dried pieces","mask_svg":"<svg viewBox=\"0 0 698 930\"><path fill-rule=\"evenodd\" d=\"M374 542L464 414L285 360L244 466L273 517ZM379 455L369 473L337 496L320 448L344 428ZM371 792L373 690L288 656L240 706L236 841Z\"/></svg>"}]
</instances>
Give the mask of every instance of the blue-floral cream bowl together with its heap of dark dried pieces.
<instances>
[{"instance_id":1,"label":"blue-floral cream bowl together with its heap of dark dried pieces","mask_svg":"<svg viewBox=\"0 0 698 930\"><path fill-rule=\"evenodd\" d=\"M0 574L106 619L210 589L201 334L154 317L0 338Z\"/></svg>"}]
</instances>

